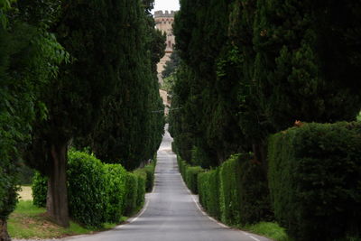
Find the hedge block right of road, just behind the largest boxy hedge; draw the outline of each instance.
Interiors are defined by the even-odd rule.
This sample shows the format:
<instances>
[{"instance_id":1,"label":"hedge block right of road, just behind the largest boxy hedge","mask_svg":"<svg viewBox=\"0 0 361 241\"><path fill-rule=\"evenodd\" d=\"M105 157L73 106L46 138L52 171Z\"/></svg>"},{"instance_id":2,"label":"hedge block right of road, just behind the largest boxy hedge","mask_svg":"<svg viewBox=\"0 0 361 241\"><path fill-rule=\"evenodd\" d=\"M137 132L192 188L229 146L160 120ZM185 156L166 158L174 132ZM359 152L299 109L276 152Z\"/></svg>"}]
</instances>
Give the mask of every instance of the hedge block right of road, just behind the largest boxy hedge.
<instances>
[{"instance_id":1,"label":"hedge block right of road, just behind the largest boxy hedge","mask_svg":"<svg viewBox=\"0 0 361 241\"><path fill-rule=\"evenodd\" d=\"M219 171L221 220L245 225L269 220L269 192L262 166L250 154L232 155Z\"/></svg>"}]
</instances>

